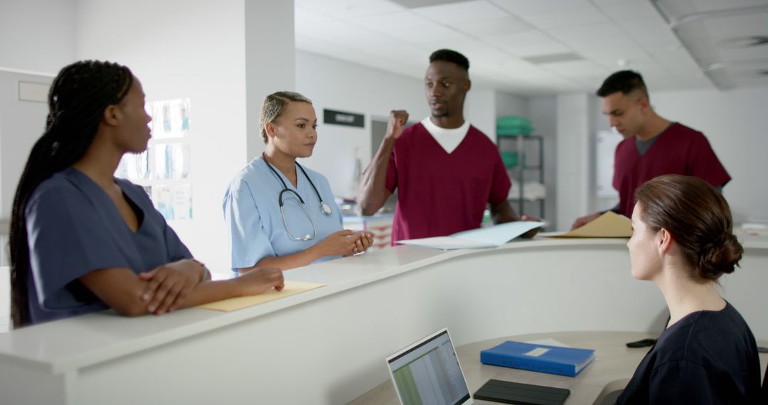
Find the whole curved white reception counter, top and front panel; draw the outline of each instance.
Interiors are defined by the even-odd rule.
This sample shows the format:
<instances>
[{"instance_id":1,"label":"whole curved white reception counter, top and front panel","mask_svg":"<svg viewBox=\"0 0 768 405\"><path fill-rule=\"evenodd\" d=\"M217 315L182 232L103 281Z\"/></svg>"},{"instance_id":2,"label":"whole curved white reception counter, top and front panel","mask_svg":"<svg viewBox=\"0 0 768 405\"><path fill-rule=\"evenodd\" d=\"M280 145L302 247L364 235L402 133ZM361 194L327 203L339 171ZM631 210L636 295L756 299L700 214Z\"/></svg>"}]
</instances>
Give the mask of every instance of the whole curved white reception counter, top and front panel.
<instances>
[{"instance_id":1,"label":"whole curved white reception counter, top and front panel","mask_svg":"<svg viewBox=\"0 0 768 405\"><path fill-rule=\"evenodd\" d=\"M764 342L768 243L745 249L720 284ZM0 334L0 403L347 403L386 381L386 355L442 327L462 345L658 333L667 317L658 289L631 277L625 239L399 246L286 278L326 286L240 311L105 311Z\"/></svg>"}]
</instances>

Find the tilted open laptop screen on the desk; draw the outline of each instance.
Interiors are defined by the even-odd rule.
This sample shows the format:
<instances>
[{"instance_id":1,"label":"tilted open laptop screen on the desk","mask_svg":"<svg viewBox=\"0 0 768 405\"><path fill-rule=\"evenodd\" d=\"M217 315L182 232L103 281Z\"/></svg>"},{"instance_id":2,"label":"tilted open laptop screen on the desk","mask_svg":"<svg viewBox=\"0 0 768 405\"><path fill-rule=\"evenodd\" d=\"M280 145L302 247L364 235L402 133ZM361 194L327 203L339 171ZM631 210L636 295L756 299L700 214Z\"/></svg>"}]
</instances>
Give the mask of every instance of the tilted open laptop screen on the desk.
<instances>
[{"instance_id":1,"label":"tilted open laptop screen on the desk","mask_svg":"<svg viewBox=\"0 0 768 405\"><path fill-rule=\"evenodd\" d=\"M447 329L411 344L386 360L404 405L454 405L470 399Z\"/></svg>"}]
</instances>

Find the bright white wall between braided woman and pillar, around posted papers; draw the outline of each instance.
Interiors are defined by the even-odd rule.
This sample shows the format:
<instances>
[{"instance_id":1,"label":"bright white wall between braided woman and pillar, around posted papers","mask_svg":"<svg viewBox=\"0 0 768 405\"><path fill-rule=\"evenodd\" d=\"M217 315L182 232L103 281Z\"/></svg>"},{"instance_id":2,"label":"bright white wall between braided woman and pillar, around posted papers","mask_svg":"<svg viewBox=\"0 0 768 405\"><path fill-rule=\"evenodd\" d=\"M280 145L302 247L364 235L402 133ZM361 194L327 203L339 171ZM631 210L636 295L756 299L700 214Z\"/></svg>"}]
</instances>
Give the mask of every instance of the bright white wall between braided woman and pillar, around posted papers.
<instances>
[{"instance_id":1,"label":"bright white wall between braided woman and pillar, around posted papers","mask_svg":"<svg viewBox=\"0 0 768 405\"><path fill-rule=\"evenodd\" d=\"M169 223L214 270L230 266L221 202L246 163L243 2L78 1L78 58L131 67L148 101L190 98L194 219Z\"/></svg>"}]
</instances>

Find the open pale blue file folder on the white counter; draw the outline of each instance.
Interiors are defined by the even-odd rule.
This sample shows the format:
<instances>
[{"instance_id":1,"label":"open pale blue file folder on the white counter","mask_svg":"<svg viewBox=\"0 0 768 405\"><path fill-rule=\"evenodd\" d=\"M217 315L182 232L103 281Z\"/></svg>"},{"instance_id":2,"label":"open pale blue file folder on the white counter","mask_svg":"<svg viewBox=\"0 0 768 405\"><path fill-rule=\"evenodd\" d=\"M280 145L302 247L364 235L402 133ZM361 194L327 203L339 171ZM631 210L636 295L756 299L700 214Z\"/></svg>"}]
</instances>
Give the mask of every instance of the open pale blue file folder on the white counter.
<instances>
[{"instance_id":1,"label":"open pale blue file folder on the white counter","mask_svg":"<svg viewBox=\"0 0 768 405\"><path fill-rule=\"evenodd\" d=\"M454 249L480 249L495 248L518 236L547 225L547 222L515 221L488 226L487 228L471 229L456 232L448 236L436 236L434 238L406 239L397 241L403 245L416 245L425 248L454 250Z\"/></svg>"}]
</instances>

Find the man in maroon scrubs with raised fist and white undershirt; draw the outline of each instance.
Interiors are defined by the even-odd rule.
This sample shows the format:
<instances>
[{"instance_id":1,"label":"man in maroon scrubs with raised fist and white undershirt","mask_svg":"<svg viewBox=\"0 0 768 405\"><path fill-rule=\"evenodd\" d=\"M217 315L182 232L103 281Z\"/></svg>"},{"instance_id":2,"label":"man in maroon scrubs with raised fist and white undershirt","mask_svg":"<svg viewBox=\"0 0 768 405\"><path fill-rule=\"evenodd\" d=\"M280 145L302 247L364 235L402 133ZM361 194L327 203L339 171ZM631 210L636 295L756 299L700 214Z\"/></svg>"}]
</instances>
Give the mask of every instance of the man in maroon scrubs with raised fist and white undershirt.
<instances>
[{"instance_id":1,"label":"man in maroon scrubs with raised fist and white undershirt","mask_svg":"<svg viewBox=\"0 0 768 405\"><path fill-rule=\"evenodd\" d=\"M468 71L464 55L449 49L432 53L424 77L432 114L403 128L408 113L393 110L381 147L362 174L357 199L362 215L376 213L399 189L392 245L478 228L488 204L496 223L519 219L507 201L510 182L498 149L464 120Z\"/></svg>"}]
</instances>

